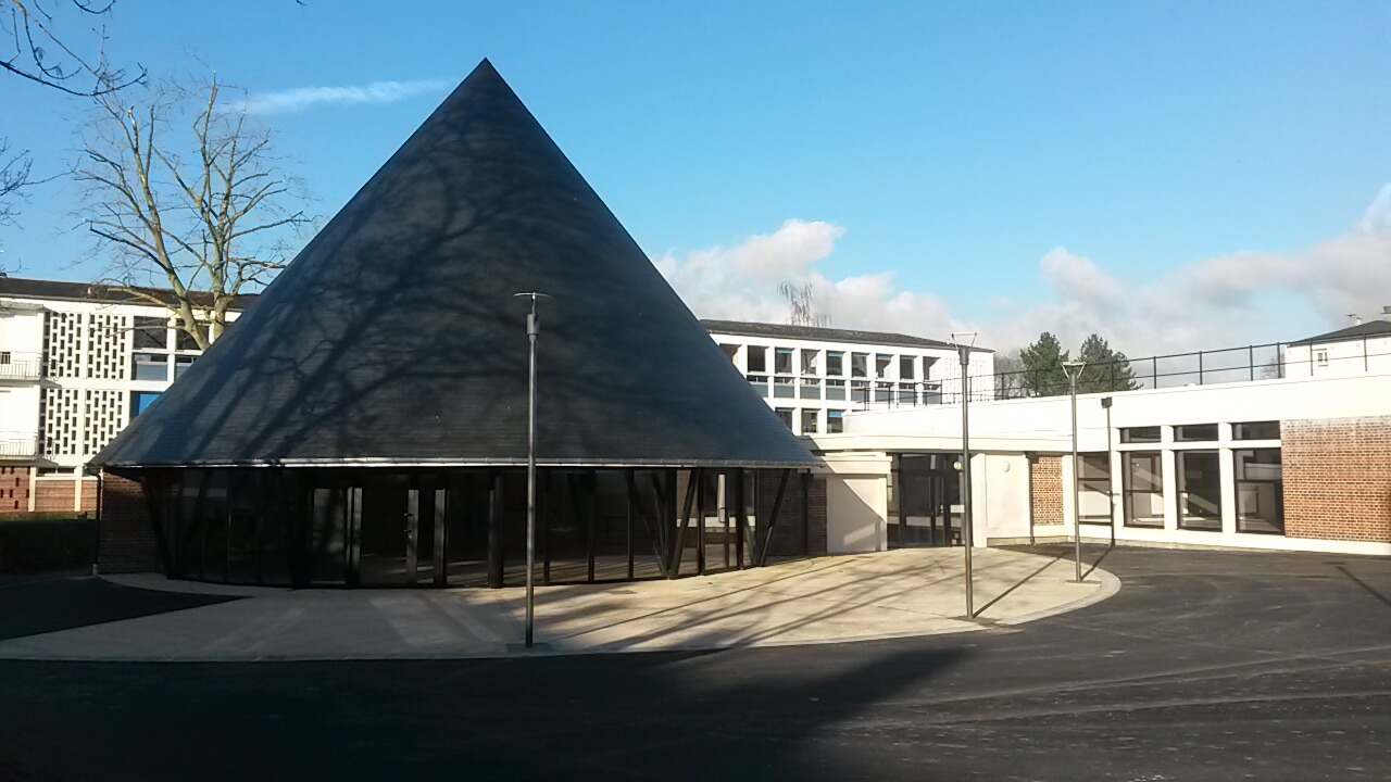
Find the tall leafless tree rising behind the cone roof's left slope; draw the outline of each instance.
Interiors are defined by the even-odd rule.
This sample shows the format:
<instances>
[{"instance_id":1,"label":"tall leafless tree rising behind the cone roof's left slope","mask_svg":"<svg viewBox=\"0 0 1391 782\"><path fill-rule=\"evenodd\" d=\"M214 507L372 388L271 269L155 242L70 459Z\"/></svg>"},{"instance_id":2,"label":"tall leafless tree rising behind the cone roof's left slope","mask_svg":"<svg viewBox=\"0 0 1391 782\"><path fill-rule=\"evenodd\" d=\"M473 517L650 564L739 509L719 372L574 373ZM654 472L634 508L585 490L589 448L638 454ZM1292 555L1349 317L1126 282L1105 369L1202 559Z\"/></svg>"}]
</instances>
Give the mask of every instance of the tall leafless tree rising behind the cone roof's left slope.
<instances>
[{"instance_id":1,"label":"tall leafless tree rising behind the cone roof's left slope","mask_svg":"<svg viewBox=\"0 0 1391 782\"><path fill-rule=\"evenodd\" d=\"M242 103L220 103L223 89L214 79L97 96L77 174L106 281L168 308L200 348L203 324L220 334L236 295L282 269L310 221L270 132ZM171 288L172 301L149 284Z\"/></svg>"}]
</instances>

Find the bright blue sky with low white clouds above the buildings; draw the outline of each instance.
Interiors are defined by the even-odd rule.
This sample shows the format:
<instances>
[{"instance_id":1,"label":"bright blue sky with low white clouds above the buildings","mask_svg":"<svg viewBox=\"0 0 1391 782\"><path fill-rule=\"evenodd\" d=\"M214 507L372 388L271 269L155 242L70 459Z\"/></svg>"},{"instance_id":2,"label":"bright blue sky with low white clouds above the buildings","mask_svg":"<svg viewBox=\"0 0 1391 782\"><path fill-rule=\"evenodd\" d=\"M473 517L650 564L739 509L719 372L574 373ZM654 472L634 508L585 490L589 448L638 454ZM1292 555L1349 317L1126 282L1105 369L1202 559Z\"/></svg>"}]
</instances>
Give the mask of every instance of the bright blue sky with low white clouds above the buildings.
<instances>
[{"instance_id":1,"label":"bright blue sky with low white clouds above the buildings","mask_svg":"<svg viewBox=\"0 0 1391 782\"><path fill-rule=\"evenodd\" d=\"M702 316L779 319L793 280L836 326L1143 355L1391 305L1384 1L120 0L108 28L253 97L409 82L262 117L324 216L490 57ZM0 107L71 159L79 102L0 78ZM74 205L36 188L0 262L96 276Z\"/></svg>"}]
</instances>

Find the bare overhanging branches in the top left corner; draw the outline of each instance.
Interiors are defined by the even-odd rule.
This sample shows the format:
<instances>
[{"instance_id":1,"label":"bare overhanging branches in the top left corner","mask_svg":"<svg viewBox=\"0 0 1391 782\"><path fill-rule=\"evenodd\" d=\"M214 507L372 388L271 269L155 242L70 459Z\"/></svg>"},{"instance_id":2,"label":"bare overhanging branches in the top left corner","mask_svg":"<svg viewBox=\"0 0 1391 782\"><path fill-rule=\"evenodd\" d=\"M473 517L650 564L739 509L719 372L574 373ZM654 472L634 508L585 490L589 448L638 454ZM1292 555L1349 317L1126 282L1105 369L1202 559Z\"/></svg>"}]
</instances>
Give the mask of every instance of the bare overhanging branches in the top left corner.
<instances>
[{"instance_id":1,"label":"bare overhanging branches in the top left corner","mask_svg":"<svg viewBox=\"0 0 1391 782\"><path fill-rule=\"evenodd\" d=\"M78 96L108 95L145 81L145 68L136 65L136 71L132 74L125 68L114 67L106 58L106 26L100 22L110 15L115 0L104 3L96 0L58 0L57 3L0 0L0 8L6 6L8 6L8 14L0 10L0 33L6 39L0 45L0 70ZM54 10L50 11L50 8ZM58 31L60 15L70 17L71 24L97 22L97 26L92 28L95 42L82 47L71 43L71 39ZM79 53L78 49L89 49L89 51Z\"/></svg>"}]
</instances>

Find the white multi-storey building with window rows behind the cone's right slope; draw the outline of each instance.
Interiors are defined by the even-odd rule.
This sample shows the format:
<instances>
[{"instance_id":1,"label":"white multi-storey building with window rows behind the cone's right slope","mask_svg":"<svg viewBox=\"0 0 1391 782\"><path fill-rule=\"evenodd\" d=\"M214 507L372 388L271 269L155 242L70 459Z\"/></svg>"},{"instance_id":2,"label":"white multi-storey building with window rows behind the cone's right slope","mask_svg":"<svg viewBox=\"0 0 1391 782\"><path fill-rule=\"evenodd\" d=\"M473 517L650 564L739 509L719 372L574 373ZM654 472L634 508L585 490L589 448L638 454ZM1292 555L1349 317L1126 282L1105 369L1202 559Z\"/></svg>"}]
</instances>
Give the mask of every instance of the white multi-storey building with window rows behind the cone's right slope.
<instances>
[{"instance_id":1,"label":"white multi-storey building with window rows behind the cone's right slope","mask_svg":"<svg viewBox=\"0 0 1391 782\"><path fill-rule=\"evenodd\" d=\"M872 408L938 406L961 397L950 342L847 328L702 320L748 384L796 434L837 433L844 416ZM989 395L995 352L972 348L972 397Z\"/></svg>"}]
</instances>

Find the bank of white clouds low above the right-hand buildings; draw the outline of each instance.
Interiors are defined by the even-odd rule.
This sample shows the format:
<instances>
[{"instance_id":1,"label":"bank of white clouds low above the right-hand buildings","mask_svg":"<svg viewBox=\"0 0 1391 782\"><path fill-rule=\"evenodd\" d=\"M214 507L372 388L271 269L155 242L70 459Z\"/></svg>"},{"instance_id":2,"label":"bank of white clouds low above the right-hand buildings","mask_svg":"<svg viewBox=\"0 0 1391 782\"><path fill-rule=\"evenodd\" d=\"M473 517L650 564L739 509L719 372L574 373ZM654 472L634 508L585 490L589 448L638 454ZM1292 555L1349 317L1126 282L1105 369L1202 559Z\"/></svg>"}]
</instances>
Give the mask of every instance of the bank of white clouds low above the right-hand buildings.
<instances>
[{"instance_id":1,"label":"bank of white clouds low above the right-hand buildings","mask_svg":"<svg viewBox=\"0 0 1391 782\"><path fill-rule=\"evenodd\" d=\"M655 257L701 317L780 323L779 282L811 284L832 326L944 338L978 330L1008 349L1053 331L1064 345L1091 333L1131 356L1214 349L1306 337L1391 305L1391 185L1346 232L1294 253L1242 250L1178 266L1127 285L1102 263L1059 246L1039 259L1036 299L988 302L983 323L963 323L932 292L901 289L893 271L832 277L822 271L844 228L789 220L771 234Z\"/></svg>"}]
</instances>

